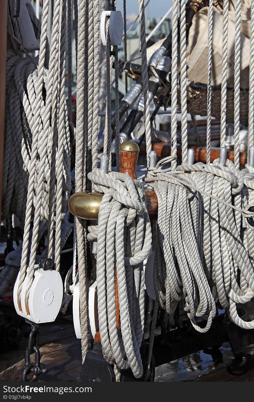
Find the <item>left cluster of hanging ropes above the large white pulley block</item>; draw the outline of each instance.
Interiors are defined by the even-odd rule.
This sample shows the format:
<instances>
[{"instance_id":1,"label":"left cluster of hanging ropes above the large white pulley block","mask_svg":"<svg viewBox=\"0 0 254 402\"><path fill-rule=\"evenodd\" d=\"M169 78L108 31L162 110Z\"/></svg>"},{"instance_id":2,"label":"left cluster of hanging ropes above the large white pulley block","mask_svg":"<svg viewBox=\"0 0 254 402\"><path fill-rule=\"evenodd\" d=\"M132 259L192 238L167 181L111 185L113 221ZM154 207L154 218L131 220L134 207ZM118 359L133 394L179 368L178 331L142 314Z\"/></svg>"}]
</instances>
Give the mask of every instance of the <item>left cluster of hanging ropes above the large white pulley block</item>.
<instances>
[{"instance_id":1,"label":"left cluster of hanging ropes above the large white pulley block","mask_svg":"<svg viewBox=\"0 0 254 402\"><path fill-rule=\"evenodd\" d=\"M57 271L61 248L71 231L69 223L65 225L71 190L70 131L65 100L66 7L66 0L54 2L50 50L49 0L45 0L39 57L33 59L26 51L20 54L22 38L14 25L20 51L18 55L8 53L7 59L4 214L15 213L24 228L18 298L27 274L27 303L41 222L48 223L47 256L53 258ZM12 39L16 37L9 35Z\"/></svg>"}]
</instances>

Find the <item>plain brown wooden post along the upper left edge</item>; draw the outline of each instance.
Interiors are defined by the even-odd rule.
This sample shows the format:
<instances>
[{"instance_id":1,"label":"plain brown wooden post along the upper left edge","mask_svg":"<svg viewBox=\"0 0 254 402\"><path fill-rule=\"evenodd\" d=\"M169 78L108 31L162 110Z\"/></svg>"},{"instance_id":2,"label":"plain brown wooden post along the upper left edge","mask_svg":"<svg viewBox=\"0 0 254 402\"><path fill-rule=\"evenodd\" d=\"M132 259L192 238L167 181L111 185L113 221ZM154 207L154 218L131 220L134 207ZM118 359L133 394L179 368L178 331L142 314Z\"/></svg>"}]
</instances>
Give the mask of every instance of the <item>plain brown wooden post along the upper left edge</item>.
<instances>
[{"instance_id":1,"label":"plain brown wooden post along the upper left edge","mask_svg":"<svg viewBox=\"0 0 254 402\"><path fill-rule=\"evenodd\" d=\"M4 162L5 79L7 45L7 0L2 0L0 11L0 216L2 211L2 185Z\"/></svg>"}]
</instances>

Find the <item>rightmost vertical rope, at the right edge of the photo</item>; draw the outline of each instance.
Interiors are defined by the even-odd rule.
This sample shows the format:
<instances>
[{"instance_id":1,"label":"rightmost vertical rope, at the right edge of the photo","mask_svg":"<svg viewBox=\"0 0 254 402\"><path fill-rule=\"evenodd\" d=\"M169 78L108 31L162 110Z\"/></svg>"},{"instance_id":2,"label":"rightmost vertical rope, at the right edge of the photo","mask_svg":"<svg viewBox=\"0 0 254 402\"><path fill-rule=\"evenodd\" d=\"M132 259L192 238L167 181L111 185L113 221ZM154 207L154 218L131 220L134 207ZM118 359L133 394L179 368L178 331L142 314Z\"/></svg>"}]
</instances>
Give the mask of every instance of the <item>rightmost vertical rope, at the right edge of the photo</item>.
<instances>
[{"instance_id":1,"label":"rightmost vertical rope, at the right edge of the photo","mask_svg":"<svg viewBox=\"0 0 254 402\"><path fill-rule=\"evenodd\" d=\"M249 76L249 132L248 150L254 145L254 2L250 14L250 76ZM249 158L249 152L247 153ZM249 160L249 159L248 159Z\"/></svg>"}]
</instances>

